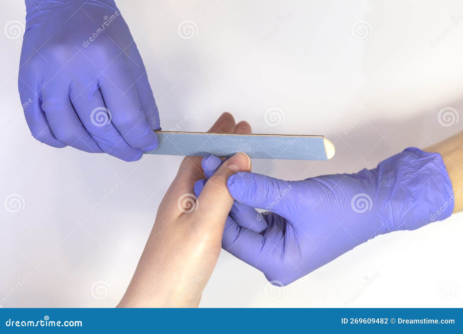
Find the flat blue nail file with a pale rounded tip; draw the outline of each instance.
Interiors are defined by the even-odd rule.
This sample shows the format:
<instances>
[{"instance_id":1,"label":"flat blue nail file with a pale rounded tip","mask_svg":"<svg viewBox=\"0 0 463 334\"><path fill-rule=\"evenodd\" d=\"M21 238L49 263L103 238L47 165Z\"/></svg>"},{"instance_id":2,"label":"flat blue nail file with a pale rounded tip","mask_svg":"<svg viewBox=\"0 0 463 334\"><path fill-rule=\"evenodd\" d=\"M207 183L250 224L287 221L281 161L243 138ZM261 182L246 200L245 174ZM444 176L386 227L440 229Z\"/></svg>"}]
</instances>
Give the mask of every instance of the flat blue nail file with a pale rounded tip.
<instances>
[{"instance_id":1,"label":"flat blue nail file with a pale rounded tip","mask_svg":"<svg viewBox=\"0 0 463 334\"><path fill-rule=\"evenodd\" d=\"M244 152L251 158L329 160L335 149L323 136L155 131L159 146L146 154L221 157Z\"/></svg>"}]
</instances>

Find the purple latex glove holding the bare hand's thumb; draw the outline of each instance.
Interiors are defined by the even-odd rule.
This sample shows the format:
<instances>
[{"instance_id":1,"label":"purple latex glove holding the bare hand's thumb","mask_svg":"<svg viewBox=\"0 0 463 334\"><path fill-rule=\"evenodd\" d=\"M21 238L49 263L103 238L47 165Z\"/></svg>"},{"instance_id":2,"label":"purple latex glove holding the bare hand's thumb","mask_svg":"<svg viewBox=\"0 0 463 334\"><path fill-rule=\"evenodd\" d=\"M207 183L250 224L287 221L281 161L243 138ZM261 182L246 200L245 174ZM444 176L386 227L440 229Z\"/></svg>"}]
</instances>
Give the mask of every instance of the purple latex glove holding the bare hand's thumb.
<instances>
[{"instance_id":1,"label":"purple latex glove holding the bare hand's thumb","mask_svg":"<svg viewBox=\"0 0 463 334\"><path fill-rule=\"evenodd\" d=\"M206 177L221 164L202 161ZM199 194L206 180L195 185ZM439 154L407 148L372 170L283 181L256 173L228 179L236 202L222 247L287 285L376 235L451 215L454 195ZM258 214L254 208L267 211Z\"/></svg>"}]
</instances>

